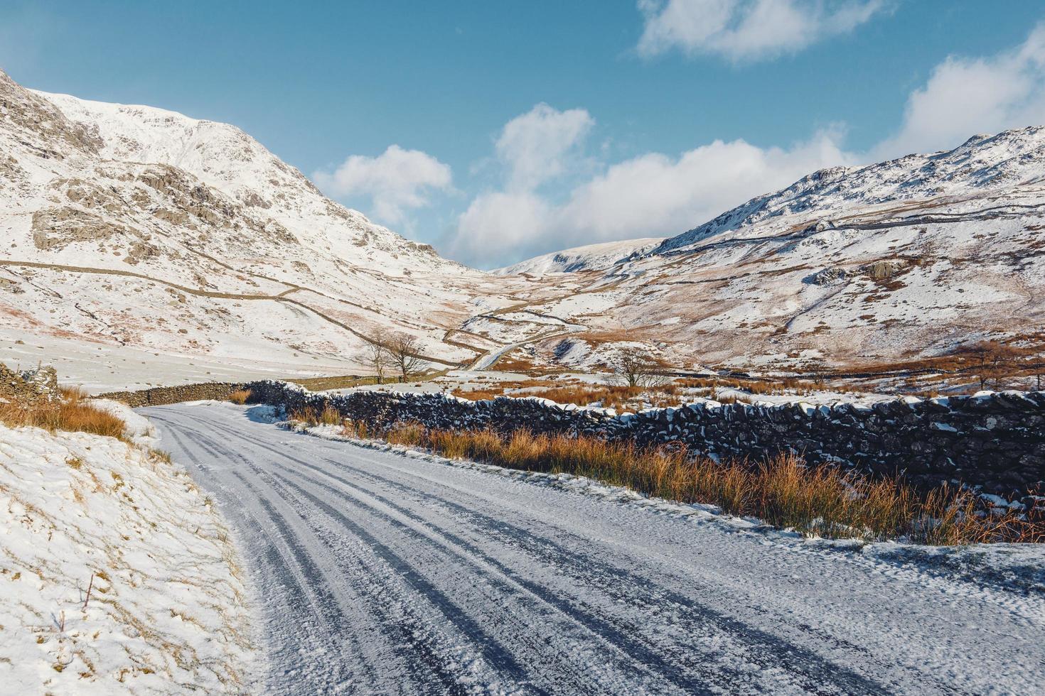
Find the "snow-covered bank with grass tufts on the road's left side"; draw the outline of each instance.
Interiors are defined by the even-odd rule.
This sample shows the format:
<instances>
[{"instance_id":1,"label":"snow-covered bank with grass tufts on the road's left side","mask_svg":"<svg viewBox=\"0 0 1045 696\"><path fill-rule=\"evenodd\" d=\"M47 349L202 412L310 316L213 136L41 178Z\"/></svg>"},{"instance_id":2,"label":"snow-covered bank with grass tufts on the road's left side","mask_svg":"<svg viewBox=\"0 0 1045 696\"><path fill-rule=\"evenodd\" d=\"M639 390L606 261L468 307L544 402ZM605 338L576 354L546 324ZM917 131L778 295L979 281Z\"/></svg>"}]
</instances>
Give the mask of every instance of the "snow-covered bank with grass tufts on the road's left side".
<instances>
[{"instance_id":1,"label":"snow-covered bank with grass tufts on the road's left side","mask_svg":"<svg viewBox=\"0 0 1045 696\"><path fill-rule=\"evenodd\" d=\"M2 691L248 691L251 613L220 518L146 449L147 421L101 406L139 446L0 426Z\"/></svg>"}]
</instances>

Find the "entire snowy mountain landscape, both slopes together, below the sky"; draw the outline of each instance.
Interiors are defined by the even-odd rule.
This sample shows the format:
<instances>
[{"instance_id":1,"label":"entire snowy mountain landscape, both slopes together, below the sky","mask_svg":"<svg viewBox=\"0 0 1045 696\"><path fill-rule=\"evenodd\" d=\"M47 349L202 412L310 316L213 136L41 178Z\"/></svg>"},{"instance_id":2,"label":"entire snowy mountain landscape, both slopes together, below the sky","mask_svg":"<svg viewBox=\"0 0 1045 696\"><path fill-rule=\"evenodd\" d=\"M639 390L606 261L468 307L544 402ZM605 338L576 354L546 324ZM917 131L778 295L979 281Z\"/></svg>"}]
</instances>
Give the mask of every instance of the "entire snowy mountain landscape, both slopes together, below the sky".
<instances>
[{"instance_id":1,"label":"entire snowy mountain landscape, both slopes together, below the sky","mask_svg":"<svg viewBox=\"0 0 1045 696\"><path fill-rule=\"evenodd\" d=\"M1045 128L835 168L667 240L465 268L238 128L0 73L0 361L93 389L433 366L819 370L1045 336Z\"/></svg>"}]
</instances>

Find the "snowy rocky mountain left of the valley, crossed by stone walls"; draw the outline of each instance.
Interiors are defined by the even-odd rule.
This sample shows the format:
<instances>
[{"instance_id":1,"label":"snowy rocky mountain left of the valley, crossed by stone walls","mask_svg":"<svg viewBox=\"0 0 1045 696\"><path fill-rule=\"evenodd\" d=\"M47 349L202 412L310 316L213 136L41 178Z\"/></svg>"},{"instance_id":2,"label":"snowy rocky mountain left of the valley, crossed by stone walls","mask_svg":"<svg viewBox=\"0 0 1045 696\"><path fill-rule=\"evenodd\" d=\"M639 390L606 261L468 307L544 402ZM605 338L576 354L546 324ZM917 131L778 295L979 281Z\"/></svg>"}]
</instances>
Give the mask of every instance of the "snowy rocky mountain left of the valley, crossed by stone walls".
<instances>
[{"instance_id":1,"label":"snowy rocky mountain left of the valley, crossed by stone walls","mask_svg":"<svg viewBox=\"0 0 1045 696\"><path fill-rule=\"evenodd\" d=\"M108 386L345 374L361 369L368 335L391 329L455 364L481 349L446 331L473 302L510 302L510 284L327 199L231 125L0 73L0 359L11 363L54 359Z\"/></svg>"}]
</instances>

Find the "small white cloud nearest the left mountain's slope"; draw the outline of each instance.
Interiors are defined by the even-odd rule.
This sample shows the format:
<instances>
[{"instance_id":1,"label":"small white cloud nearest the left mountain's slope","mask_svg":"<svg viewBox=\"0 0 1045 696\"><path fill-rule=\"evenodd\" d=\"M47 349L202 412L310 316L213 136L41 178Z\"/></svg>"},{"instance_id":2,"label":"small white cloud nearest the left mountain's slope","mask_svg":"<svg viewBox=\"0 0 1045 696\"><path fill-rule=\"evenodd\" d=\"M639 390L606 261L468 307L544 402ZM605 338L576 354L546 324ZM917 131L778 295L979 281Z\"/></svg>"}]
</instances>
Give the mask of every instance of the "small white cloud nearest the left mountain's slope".
<instances>
[{"instance_id":1,"label":"small white cloud nearest the left mountain's slope","mask_svg":"<svg viewBox=\"0 0 1045 696\"><path fill-rule=\"evenodd\" d=\"M333 197L368 196L374 216L401 222L409 209L426 206L427 193L450 188L448 165L420 150L391 145L376 158L352 154L333 172L318 171L316 183Z\"/></svg>"}]
</instances>

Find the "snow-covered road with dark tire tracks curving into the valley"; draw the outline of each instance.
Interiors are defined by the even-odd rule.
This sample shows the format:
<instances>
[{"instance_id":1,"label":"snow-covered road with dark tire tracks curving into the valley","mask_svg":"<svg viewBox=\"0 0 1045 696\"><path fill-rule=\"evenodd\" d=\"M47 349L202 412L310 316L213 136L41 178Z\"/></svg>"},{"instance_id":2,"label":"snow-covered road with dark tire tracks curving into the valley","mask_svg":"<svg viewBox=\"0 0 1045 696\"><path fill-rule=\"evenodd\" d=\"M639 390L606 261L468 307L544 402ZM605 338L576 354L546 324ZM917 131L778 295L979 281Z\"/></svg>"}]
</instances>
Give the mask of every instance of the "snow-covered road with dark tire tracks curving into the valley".
<instances>
[{"instance_id":1,"label":"snow-covered road with dark tire tracks curving into the valley","mask_svg":"<svg viewBox=\"0 0 1045 696\"><path fill-rule=\"evenodd\" d=\"M324 440L145 409L218 501L272 693L1040 693L1045 599Z\"/></svg>"}]
</instances>

